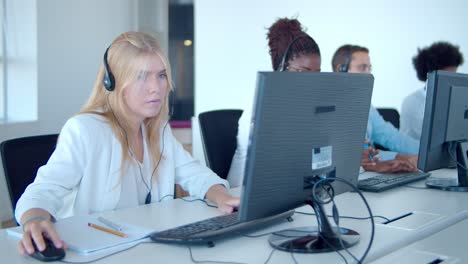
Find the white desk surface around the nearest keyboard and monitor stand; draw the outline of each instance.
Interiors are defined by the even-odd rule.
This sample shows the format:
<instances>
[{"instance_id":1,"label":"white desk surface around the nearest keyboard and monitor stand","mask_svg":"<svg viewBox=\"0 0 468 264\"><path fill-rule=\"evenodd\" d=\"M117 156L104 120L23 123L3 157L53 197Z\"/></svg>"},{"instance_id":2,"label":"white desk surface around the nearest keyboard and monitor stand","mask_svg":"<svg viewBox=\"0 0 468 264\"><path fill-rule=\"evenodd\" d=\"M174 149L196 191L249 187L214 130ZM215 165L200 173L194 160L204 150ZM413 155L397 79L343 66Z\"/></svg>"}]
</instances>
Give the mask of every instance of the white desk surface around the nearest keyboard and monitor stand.
<instances>
[{"instance_id":1,"label":"white desk surface around the nearest keyboard and monitor stand","mask_svg":"<svg viewBox=\"0 0 468 264\"><path fill-rule=\"evenodd\" d=\"M454 175L455 173L453 170L439 170L434 172L433 175L444 176ZM420 181L410 185L423 187L424 182ZM382 261L388 261L386 258L394 257L395 254L397 256L398 254L400 256L401 254L404 255L405 252L401 253L401 250L408 245L414 247L414 250L430 245L430 251L436 252L440 249L438 252L440 254L453 255L459 259L468 260L468 256L463 255L465 252L463 252L464 249L461 246L459 248L450 246L455 245L455 242L450 240L451 235L456 234L459 228L468 225L468 221L463 221L468 219L468 203L466 202L468 193L400 187L383 193L365 193L365 197L374 215L395 218L413 212L413 215L388 225L381 224L382 219L376 219L374 244L366 262L391 263ZM367 217L365 206L357 193L344 193L337 196L335 201L340 215ZM312 209L304 206L296 211L312 212ZM215 208L207 207L202 202L185 202L176 199L158 204L105 212L102 215L154 230L163 230L219 214ZM255 233L260 234L290 227L316 225L314 216L295 214L293 218L293 222L283 222L258 230ZM464 223L465 225L463 225ZM340 225L352 228L361 234L360 243L350 249L359 258L369 241L370 221L342 219ZM439 236L444 239L443 241L446 241L444 242L445 248L439 247L437 243L432 242L441 239ZM241 236L219 241L213 248L192 246L191 249L196 260L264 263L272 252L267 239L268 236L259 238ZM468 239L465 240L468 242ZM0 230L0 256L2 256L3 263L36 262L30 257L21 256L17 251L16 244L17 239L9 237L5 230ZM449 251L449 249L452 251ZM72 254L67 252L67 254L69 253ZM343 252L343 254L345 253ZM298 263L310 263L311 261L344 263L337 253L292 255L280 251L274 251L268 263L294 263L293 257ZM350 257L347 257L347 259L348 261L351 260ZM101 259L97 263L127 263L131 261L137 261L138 263L154 261L161 263L191 262L187 246L145 243Z\"/></svg>"}]
</instances>

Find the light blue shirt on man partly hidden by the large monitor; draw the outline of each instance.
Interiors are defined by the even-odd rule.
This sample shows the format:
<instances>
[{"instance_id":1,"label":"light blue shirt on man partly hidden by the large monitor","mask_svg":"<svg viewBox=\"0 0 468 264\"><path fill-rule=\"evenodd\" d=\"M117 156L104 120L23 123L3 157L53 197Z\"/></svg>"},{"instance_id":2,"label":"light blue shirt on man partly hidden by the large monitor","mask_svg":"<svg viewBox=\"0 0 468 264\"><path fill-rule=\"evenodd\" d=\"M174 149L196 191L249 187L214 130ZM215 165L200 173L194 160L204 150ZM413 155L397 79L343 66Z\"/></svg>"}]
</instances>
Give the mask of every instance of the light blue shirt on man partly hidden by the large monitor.
<instances>
[{"instance_id":1,"label":"light blue shirt on man partly hidden by the large monitor","mask_svg":"<svg viewBox=\"0 0 468 264\"><path fill-rule=\"evenodd\" d=\"M419 142L395 128L379 114L375 107L371 106L369 120L367 121L366 137L372 142L382 145L391 151L381 151L382 160L392 160L398 153L418 154Z\"/></svg>"}]
</instances>

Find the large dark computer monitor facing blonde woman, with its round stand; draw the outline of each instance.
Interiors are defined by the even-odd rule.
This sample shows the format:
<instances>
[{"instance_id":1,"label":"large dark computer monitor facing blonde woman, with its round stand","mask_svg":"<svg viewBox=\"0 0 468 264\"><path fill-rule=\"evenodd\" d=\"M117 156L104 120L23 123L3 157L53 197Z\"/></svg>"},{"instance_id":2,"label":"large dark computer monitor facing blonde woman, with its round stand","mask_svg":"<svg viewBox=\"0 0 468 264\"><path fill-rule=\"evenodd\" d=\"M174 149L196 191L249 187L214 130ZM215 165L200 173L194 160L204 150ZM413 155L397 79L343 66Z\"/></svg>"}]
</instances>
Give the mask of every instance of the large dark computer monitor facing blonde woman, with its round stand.
<instances>
[{"instance_id":1,"label":"large dark computer monitor facing blonde woman, with its round stand","mask_svg":"<svg viewBox=\"0 0 468 264\"><path fill-rule=\"evenodd\" d=\"M319 225L275 232L273 247L326 252L359 241L346 228L338 236L322 204L313 202L312 186L323 177L357 183L373 80L370 74L258 73L239 218L251 221L311 204ZM332 185L335 195L349 191L340 182Z\"/></svg>"}]
</instances>

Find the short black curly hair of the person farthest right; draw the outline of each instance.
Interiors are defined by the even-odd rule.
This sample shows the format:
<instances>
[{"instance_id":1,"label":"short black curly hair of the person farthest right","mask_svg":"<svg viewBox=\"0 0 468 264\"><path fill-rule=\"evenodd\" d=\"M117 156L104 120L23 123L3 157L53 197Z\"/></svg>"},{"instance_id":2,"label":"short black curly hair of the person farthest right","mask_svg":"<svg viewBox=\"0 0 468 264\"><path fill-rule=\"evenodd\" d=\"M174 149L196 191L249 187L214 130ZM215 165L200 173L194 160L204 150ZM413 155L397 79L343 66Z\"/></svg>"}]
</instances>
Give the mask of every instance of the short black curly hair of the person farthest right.
<instances>
[{"instance_id":1,"label":"short black curly hair of the person farthest right","mask_svg":"<svg viewBox=\"0 0 468 264\"><path fill-rule=\"evenodd\" d=\"M449 42L435 42L429 47L418 48L418 53L413 57L413 65L418 79L426 81L427 74L447 67L458 67L463 64L463 54L458 46Z\"/></svg>"}]
</instances>

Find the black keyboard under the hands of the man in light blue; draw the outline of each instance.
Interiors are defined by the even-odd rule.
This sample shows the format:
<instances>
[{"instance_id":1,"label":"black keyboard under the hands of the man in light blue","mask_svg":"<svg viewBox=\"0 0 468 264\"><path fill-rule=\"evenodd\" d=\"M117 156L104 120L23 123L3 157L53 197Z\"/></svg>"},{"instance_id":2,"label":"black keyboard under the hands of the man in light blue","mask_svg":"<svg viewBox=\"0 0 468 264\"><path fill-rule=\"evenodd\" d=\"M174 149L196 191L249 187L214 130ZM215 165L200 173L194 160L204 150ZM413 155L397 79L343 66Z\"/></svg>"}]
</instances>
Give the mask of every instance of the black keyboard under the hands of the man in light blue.
<instances>
[{"instance_id":1,"label":"black keyboard under the hands of the man in light blue","mask_svg":"<svg viewBox=\"0 0 468 264\"><path fill-rule=\"evenodd\" d=\"M358 181L358 188L368 192L381 192L392 189L410 182L427 178L431 175L428 172L409 172L379 174L371 178Z\"/></svg>"}]
</instances>

